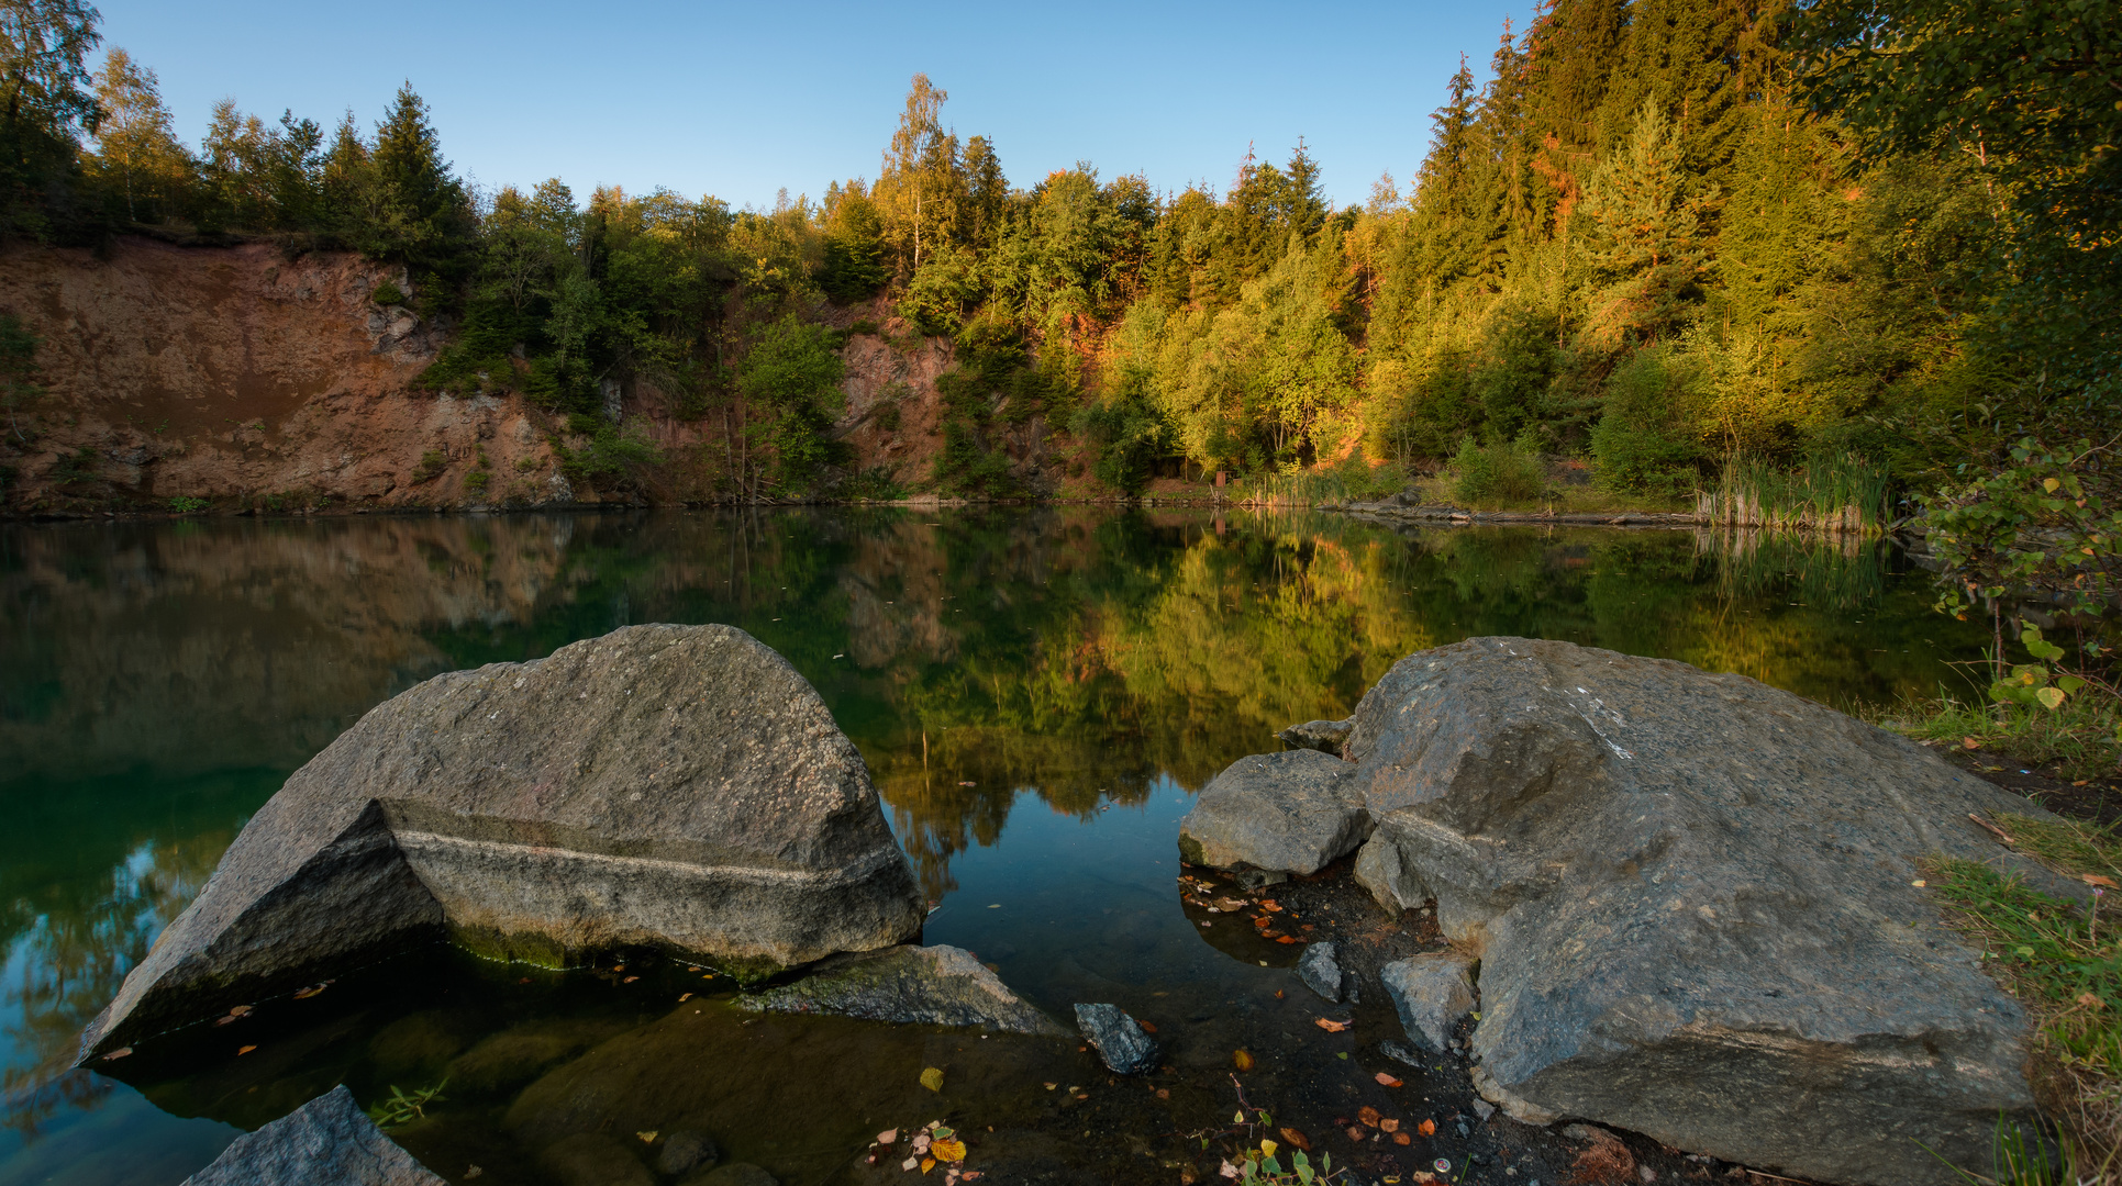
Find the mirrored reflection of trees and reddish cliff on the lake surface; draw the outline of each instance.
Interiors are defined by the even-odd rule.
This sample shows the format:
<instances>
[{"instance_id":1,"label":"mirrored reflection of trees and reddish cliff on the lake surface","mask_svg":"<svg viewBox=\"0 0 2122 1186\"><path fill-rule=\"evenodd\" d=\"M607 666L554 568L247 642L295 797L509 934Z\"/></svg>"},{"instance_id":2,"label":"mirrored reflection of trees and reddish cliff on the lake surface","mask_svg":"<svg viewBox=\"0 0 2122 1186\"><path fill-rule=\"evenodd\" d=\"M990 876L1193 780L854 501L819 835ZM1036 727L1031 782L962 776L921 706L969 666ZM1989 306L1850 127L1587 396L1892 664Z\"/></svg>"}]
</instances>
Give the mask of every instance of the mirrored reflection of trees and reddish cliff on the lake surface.
<instances>
[{"instance_id":1,"label":"mirrored reflection of trees and reddish cliff on the lake surface","mask_svg":"<svg viewBox=\"0 0 2122 1186\"><path fill-rule=\"evenodd\" d=\"M1927 692L1976 647L1878 545L1708 533L1097 509L6 526L6 1124L93 1105L106 1080L62 1074L74 1031L363 711L630 622L728 622L787 656L868 757L929 897L1019 804L1197 789L1468 634L1827 702Z\"/></svg>"}]
</instances>

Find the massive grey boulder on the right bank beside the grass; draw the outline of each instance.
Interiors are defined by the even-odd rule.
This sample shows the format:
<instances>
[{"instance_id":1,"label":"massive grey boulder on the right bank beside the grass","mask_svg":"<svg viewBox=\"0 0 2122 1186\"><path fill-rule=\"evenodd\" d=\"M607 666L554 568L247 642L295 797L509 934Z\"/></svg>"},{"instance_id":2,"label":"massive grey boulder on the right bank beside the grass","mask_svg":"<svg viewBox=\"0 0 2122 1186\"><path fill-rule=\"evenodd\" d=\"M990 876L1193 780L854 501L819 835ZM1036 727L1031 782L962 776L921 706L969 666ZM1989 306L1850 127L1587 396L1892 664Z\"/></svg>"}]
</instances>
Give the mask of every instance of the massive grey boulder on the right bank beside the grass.
<instances>
[{"instance_id":1,"label":"massive grey boulder on the right bank beside the grass","mask_svg":"<svg viewBox=\"0 0 2122 1186\"><path fill-rule=\"evenodd\" d=\"M1925 1146L1980 1167L2033 1110L2027 1014L1912 885L2054 885L1967 819L2029 802L1753 679L1528 639L1401 660L1347 753L1358 870L1479 955L1475 1082L1515 1116L1929 1184Z\"/></svg>"}]
</instances>

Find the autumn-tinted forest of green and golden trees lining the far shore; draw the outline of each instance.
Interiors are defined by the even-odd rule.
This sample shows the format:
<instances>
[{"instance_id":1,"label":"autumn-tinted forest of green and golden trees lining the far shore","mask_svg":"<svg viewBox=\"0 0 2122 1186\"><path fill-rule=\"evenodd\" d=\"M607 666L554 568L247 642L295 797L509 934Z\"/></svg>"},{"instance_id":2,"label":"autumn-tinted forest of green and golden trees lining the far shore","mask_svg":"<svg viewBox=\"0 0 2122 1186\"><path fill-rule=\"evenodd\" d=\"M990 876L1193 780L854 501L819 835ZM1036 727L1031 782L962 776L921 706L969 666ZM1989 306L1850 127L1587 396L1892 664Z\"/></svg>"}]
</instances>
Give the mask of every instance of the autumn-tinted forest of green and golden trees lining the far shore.
<instances>
[{"instance_id":1,"label":"autumn-tinted forest of green and golden trees lining the far shore","mask_svg":"<svg viewBox=\"0 0 2122 1186\"><path fill-rule=\"evenodd\" d=\"M424 382L530 397L590 469L651 454L613 380L719 424L732 496L1036 494L1004 450L1033 420L1118 494L1570 456L1645 501L1740 458L1935 488L2122 429L2122 72L2077 0L1551 0L1347 208L1303 142L1222 191L1012 185L921 74L874 176L815 199L475 191L410 83L373 125L225 100L189 146L93 8L6 13L0 231L403 263L378 303L454 327ZM893 318L951 342L942 446L857 475L838 352Z\"/></svg>"}]
</instances>

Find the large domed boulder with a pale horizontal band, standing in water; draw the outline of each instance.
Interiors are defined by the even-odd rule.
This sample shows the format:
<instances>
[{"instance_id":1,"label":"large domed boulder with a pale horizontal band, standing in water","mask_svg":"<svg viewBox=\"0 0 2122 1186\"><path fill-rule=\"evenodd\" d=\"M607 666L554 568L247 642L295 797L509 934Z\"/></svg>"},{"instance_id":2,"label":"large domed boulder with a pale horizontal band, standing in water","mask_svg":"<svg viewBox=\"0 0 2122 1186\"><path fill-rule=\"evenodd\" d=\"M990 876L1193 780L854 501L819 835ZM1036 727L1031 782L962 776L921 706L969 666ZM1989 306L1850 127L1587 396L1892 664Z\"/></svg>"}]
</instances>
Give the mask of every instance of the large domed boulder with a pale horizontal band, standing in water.
<instances>
[{"instance_id":1,"label":"large domed boulder with a pale horizontal band, standing in water","mask_svg":"<svg viewBox=\"0 0 2122 1186\"><path fill-rule=\"evenodd\" d=\"M83 1054L450 936L554 965L620 944L758 978L923 919L862 753L730 626L628 626L371 709L236 838Z\"/></svg>"}]
</instances>

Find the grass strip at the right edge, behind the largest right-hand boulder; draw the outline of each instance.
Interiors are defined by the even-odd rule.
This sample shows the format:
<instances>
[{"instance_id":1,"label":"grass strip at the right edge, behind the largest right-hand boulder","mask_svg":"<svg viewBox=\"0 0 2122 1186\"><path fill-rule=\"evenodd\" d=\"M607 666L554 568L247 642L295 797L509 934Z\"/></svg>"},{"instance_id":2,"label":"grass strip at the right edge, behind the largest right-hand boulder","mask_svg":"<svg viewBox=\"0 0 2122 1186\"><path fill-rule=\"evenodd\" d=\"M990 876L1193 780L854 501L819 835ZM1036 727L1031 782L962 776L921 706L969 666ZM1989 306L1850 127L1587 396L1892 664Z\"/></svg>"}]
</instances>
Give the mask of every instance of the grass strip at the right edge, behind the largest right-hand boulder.
<instances>
[{"instance_id":1,"label":"grass strip at the right edge, behind the largest right-hand boulder","mask_svg":"<svg viewBox=\"0 0 2122 1186\"><path fill-rule=\"evenodd\" d=\"M1978 704L1940 692L1906 700L1872 723L1914 740L2010 753L2033 766L2056 764L2067 779L2111 779L2122 770L2122 711L2105 696L2071 696L2060 709Z\"/></svg>"}]
</instances>

